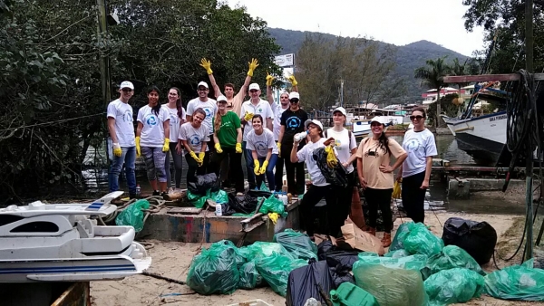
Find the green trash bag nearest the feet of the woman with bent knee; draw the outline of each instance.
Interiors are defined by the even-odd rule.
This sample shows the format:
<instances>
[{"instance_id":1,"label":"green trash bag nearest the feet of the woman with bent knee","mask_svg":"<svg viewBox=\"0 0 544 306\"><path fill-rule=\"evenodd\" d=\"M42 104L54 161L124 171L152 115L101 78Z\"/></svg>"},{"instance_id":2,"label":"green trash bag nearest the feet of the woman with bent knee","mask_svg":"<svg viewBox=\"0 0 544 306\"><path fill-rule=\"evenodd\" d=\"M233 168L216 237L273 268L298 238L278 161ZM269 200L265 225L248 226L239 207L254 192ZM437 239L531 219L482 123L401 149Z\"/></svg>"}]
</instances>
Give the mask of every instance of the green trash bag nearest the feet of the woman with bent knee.
<instances>
[{"instance_id":1,"label":"green trash bag nearest the feet of the woman with bent knee","mask_svg":"<svg viewBox=\"0 0 544 306\"><path fill-rule=\"evenodd\" d=\"M285 231L275 234L272 241L283 245L298 259L307 261L310 258L315 258L317 260L317 245L310 240L307 234L287 228Z\"/></svg>"}]
</instances>

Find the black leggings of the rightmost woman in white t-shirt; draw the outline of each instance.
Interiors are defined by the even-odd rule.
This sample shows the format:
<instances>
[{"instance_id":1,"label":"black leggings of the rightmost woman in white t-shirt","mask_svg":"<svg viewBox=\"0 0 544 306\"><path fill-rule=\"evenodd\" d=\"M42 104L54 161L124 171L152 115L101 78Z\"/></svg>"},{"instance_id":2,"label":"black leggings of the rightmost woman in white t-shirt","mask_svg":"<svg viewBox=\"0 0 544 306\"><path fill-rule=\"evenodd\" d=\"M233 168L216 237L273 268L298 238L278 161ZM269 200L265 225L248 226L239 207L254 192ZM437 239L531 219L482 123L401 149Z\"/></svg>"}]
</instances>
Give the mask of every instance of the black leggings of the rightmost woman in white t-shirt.
<instances>
[{"instance_id":1,"label":"black leggings of the rightmost woman in white t-shirt","mask_svg":"<svg viewBox=\"0 0 544 306\"><path fill-rule=\"evenodd\" d=\"M425 171L410 177L403 177L403 207L406 215L414 223L425 222L425 192L420 188L425 179Z\"/></svg>"}]
</instances>

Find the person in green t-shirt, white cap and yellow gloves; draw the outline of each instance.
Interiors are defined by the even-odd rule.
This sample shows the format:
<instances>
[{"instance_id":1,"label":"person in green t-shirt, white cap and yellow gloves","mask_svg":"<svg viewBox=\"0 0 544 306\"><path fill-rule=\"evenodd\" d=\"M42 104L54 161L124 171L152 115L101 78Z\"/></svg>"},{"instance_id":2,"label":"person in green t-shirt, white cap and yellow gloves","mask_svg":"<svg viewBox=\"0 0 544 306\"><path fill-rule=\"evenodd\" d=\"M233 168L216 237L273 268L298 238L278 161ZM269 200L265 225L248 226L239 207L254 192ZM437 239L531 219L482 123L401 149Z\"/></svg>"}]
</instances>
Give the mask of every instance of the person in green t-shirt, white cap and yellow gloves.
<instances>
[{"instance_id":1,"label":"person in green t-shirt, white cap and yellow gloves","mask_svg":"<svg viewBox=\"0 0 544 306\"><path fill-rule=\"evenodd\" d=\"M219 180L223 184L231 173L236 192L244 192L244 172L242 170L242 126L237 114L227 109L227 97L219 96L219 111L212 120L213 139L217 154L212 156L212 162L221 165L225 158L226 167L216 167ZM228 171L220 171L220 168ZM219 172L221 172L219 174ZM225 187L225 186L224 186Z\"/></svg>"}]
</instances>

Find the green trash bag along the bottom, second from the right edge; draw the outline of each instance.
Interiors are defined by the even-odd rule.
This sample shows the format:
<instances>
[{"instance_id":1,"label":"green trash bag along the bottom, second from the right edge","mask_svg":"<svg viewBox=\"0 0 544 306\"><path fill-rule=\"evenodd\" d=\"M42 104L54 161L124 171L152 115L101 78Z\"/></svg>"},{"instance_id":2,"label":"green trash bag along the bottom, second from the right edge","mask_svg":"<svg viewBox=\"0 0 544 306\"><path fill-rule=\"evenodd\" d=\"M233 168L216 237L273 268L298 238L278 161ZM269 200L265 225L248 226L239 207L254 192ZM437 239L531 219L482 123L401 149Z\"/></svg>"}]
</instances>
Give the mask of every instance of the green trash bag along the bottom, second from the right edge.
<instances>
[{"instance_id":1,"label":"green trash bag along the bottom, second from the right edge","mask_svg":"<svg viewBox=\"0 0 544 306\"><path fill-rule=\"evenodd\" d=\"M483 290L483 276L469 269L453 268L432 274L423 285L429 305L448 305L478 298Z\"/></svg>"}]
</instances>

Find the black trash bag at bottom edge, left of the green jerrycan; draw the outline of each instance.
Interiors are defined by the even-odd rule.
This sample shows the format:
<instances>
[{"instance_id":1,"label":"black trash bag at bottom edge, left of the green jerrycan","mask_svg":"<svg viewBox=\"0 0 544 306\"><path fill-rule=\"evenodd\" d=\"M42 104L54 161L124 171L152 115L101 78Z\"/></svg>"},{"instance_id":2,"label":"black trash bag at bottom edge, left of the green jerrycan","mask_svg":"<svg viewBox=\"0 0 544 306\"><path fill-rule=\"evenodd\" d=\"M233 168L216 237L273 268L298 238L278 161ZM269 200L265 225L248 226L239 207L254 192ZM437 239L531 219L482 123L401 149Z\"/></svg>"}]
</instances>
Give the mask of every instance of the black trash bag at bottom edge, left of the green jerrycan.
<instances>
[{"instance_id":1,"label":"black trash bag at bottom edge, left of the green jerrycan","mask_svg":"<svg viewBox=\"0 0 544 306\"><path fill-rule=\"evenodd\" d=\"M329 266L325 261L316 262L312 258L308 261L308 265L297 268L289 273L286 305L304 306L306 300L309 298L324 301L319 293L320 286L330 299L330 292L336 289L336 287L333 277L329 272Z\"/></svg>"}]
</instances>

